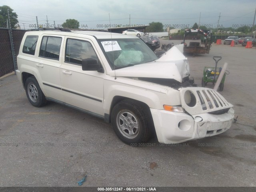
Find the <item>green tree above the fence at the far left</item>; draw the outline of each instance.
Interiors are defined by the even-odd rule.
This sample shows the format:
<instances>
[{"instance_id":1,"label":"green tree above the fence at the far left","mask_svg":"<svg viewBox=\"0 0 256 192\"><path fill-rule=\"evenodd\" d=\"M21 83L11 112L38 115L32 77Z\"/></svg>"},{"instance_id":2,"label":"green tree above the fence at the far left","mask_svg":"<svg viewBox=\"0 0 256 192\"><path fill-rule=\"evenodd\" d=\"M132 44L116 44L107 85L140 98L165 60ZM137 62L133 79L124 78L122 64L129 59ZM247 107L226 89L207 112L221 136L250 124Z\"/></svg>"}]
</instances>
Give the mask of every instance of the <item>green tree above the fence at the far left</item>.
<instances>
[{"instance_id":1,"label":"green tree above the fence at the far left","mask_svg":"<svg viewBox=\"0 0 256 192\"><path fill-rule=\"evenodd\" d=\"M0 6L0 26L7 26L6 20L8 19L8 9L10 14L11 26L12 28L16 28L15 25L18 23L18 15L15 12L12 12L13 9L7 5Z\"/></svg>"}]
</instances>

